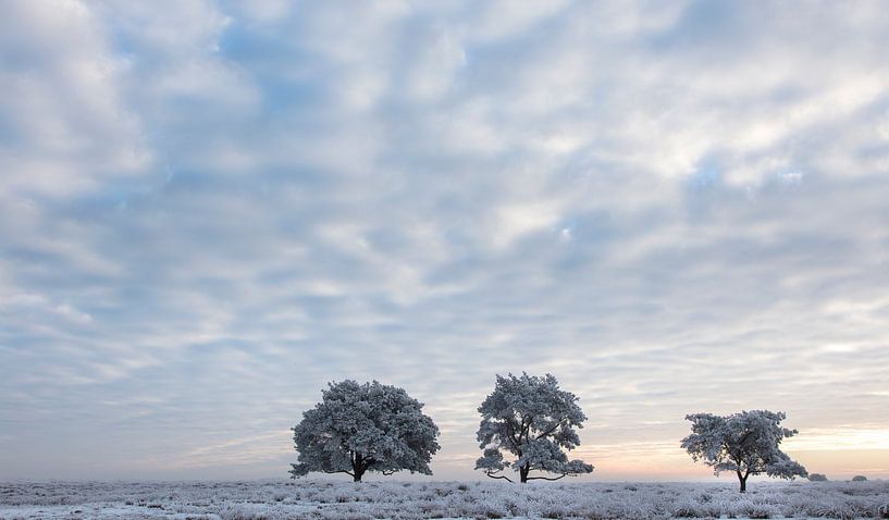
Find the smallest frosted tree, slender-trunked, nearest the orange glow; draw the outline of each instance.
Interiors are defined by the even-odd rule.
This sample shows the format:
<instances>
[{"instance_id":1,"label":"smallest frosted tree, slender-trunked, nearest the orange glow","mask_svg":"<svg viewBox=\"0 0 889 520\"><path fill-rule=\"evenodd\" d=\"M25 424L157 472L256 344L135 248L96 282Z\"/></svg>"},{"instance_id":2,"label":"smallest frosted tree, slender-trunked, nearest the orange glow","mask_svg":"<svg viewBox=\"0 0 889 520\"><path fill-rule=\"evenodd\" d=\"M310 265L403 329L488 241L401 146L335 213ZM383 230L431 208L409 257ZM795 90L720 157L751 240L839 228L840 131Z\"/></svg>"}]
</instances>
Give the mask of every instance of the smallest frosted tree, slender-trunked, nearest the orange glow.
<instances>
[{"instance_id":1,"label":"smallest frosted tree, slender-trunked, nearest the orange glow","mask_svg":"<svg viewBox=\"0 0 889 520\"><path fill-rule=\"evenodd\" d=\"M694 461L703 460L714 473L734 471L746 491L748 476L767 474L781 479L805 478L808 473L800 463L781 451L781 441L795 435L797 430L781 426L787 419L782 411L751 410L731 416L693 413L691 435L682 439L682 447Z\"/></svg>"}]
</instances>

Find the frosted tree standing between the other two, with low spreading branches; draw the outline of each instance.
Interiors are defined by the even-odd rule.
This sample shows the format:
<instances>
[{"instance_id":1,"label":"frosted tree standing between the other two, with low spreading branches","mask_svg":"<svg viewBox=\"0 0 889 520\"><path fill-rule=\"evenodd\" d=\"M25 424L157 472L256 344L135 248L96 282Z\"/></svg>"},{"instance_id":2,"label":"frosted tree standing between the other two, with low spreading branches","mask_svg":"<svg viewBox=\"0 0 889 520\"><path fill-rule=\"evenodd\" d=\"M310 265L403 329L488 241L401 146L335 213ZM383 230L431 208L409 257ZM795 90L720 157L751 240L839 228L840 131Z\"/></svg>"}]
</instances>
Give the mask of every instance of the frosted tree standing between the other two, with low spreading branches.
<instances>
[{"instance_id":1,"label":"frosted tree standing between the other two, with low spreading branches","mask_svg":"<svg viewBox=\"0 0 889 520\"><path fill-rule=\"evenodd\" d=\"M558 480L593 471L581 460L568 460L564 449L580 444L576 428L583 428L587 416L577 405L577 396L558 388L556 379L522 373L521 377L497 375L494 392L479 407L482 422L478 439L484 455L476 461L492 479L504 479L506 468L519 472L520 482ZM515 456L504 460L504 451ZM531 471L558 476L529 476Z\"/></svg>"}]
</instances>

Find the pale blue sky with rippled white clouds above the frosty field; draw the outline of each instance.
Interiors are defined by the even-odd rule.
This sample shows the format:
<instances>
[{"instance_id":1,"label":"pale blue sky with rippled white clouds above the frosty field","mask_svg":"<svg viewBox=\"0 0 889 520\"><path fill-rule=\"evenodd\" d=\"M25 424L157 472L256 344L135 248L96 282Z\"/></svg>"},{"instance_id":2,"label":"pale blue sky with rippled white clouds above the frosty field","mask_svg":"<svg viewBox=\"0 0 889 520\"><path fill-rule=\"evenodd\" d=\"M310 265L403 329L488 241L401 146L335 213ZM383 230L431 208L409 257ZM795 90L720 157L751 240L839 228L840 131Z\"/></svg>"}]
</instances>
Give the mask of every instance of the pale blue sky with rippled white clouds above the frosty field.
<instances>
[{"instance_id":1,"label":"pale blue sky with rippled white clouds above the frosty field","mask_svg":"<svg viewBox=\"0 0 889 520\"><path fill-rule=\"evenodd\" d=\"M714 480L684 416L748 409L889 478L887 48L880 1L2 1L0 480L286 478L344 379L483 479L522 371L583 479Z\"/></svg>"}]
</instances>

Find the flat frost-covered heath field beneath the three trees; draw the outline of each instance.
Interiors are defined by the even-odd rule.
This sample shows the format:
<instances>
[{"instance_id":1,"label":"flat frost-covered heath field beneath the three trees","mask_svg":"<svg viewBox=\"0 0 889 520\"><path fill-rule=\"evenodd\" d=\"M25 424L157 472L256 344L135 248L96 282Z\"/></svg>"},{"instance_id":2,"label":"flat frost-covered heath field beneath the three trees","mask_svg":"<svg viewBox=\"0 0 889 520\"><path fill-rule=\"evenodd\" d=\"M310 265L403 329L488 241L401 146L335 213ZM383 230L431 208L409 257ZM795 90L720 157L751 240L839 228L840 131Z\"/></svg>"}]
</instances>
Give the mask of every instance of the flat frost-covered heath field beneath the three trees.
<instances>
[{"instance_id":1,"label":"flat frost-covered heath field beneath the three trees","mask_svg":"<svg viewBox=\"0 0 889 520\"><path fill-rule=\"evenodd\" d=\"M889 482L0 484L0 519L889 518Z\"/></svg>"}]
</instances>

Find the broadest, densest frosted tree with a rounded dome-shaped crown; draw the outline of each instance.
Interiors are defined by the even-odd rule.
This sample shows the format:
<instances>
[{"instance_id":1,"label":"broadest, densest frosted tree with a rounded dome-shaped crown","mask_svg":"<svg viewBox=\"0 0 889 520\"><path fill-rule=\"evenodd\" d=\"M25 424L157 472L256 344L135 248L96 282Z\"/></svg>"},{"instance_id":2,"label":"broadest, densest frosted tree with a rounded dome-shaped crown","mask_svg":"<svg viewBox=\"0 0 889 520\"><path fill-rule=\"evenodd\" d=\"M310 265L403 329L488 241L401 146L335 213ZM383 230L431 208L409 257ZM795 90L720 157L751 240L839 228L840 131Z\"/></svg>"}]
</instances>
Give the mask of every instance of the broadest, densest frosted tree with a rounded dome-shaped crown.
<instances>
[{"instance_id":1,"label":"broadest, densest frosted tree with a rounded dome-shaped crown","mask_svg":"<svg viewBox=\"0 0 889 520\"><path fill-rule=\"evenodd\" d=\"M422 408L403 388L376 381L330 383L321 403L293 428L299 456L292 476L346 473L361 482L367 471L432 474L439 428Z\"/></svg>"}]
</instances>

